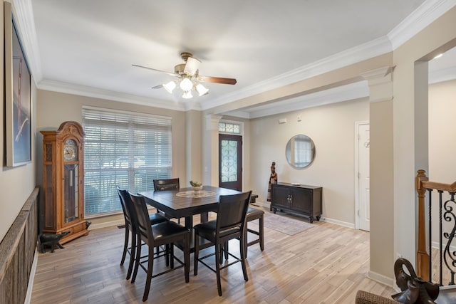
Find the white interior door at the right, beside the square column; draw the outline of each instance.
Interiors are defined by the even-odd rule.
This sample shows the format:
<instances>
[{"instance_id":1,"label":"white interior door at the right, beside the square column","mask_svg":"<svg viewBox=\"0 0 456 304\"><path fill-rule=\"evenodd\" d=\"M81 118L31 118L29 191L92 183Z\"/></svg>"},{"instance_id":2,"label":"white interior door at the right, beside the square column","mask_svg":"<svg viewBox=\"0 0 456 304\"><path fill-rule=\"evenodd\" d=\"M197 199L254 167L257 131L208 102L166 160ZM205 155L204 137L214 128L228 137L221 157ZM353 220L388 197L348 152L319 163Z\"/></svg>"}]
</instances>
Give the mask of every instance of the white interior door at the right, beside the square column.
<instances>
[{"instance_id":1,"label":"white interior door at the right, beside the square column","mask_svg":"<svg viewBox=\"0 0 456 304\"><path fill-rule=\"evenodd\" d=\"M358 125L358 228L370 230L369 123Z\"/></svg>"}]
</instances>

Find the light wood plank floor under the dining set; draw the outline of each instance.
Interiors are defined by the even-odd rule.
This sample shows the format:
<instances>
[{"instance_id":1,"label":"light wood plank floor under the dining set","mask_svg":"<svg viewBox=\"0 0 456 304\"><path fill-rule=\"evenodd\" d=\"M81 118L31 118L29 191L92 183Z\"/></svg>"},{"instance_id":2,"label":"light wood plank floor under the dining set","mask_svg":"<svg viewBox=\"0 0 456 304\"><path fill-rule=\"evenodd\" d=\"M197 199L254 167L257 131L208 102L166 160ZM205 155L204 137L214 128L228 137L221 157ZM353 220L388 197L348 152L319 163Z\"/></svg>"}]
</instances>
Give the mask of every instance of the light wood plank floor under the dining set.
<instances>
[{"instance_id":1,"label":"light wood plank floor under the dining set","mask_svg":"<svg viewBox=\"0 0 456 304\"><path fill-rule=\"evenodd\" d=\"M147 303L343 304L355 303L357 290L388 298L395 293L367 278L368 232L314 221L313 228L294 236L266 227L264 234L263 252L258 244L249 247L249 281L240 263L222 271L222 297L215 273L199 264L197 276L190 267L187 284L183 268L152 278ZM124 230L115 226L97 229L64 249L40 253L31 303L142 303L145 272L140 269L132 284L125 280L128 258L119 265L123 237ZM230 249L238 248L233 242Z\"/></svg>"}]
</instances>

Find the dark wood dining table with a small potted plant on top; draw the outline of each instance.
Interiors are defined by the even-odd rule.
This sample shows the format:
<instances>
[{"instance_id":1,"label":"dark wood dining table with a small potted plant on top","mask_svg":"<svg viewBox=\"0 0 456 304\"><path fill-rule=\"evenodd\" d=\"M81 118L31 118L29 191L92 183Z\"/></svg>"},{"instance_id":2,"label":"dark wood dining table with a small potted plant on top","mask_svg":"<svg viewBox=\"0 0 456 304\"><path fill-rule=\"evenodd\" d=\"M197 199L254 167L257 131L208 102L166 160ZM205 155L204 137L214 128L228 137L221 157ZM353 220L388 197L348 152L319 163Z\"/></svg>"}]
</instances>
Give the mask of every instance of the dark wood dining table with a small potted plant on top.
<instances>
[{"instance_id":1,"label":"dark wood dining table with a small potted plant on top","mask_svg":"<svg viewBox=\"0 0 456 304\"><path fill-rule=\"evenodd\" d=\"M220 195L239 194L237 190L203 186L200 194L194 194L192 187L165 191L140 192L150 206L165 212L173 218L185 218L185 226L193 228L193 216L201 214L201 221L207 221L209 211L217 211Z\"/></svg>"}]
</instances>

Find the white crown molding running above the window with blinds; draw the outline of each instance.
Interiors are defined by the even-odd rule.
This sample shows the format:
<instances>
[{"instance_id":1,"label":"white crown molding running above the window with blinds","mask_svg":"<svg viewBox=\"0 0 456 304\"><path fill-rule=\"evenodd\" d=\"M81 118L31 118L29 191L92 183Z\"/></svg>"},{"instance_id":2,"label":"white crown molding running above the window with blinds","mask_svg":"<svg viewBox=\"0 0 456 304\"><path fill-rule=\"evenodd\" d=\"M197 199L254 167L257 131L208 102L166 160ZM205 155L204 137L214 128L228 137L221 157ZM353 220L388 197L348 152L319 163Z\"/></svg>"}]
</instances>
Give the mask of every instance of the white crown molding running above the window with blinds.
<instances>
[{"instance_id":1,"label":"white crown molding running above the window with blinds","mask_svg":"<svg viewBox=\"0 0 456 304\"><path fill-rule=\"evenodd\" d=\"M53 80L42 80L38 83L39 90L48 90L58 93L81 95L91 98L120 101L122 103L133 103L135 105L147 105L148 107L164 108L169 110L186 111L185 103L170 102L168 100L157 100L133 94L113 92L99 88L92 88L84 85L73 85Z\"/></svg>"}]
</instances>

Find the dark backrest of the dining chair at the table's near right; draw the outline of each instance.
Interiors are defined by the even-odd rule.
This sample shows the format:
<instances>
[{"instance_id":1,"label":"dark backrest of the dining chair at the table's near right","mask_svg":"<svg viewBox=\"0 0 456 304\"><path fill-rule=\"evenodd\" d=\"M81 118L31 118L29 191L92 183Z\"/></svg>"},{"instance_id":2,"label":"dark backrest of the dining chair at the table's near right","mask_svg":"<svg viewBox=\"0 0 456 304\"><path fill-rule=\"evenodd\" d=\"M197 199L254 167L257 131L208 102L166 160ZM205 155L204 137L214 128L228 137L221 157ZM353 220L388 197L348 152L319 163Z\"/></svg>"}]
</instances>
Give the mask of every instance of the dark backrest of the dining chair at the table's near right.
<instances>
[{"instance_id":1,"label":"dark backrest of the dining chair at the table's near right","mask_svg":"<svg viewBox=\"0 0 456 304\"><path fill-rule=\"evenodd\" d=\"M252 196L252 191L219 196L217 231L234 227L244 228L250 196Z\"/></svg>"}]
</instances>

